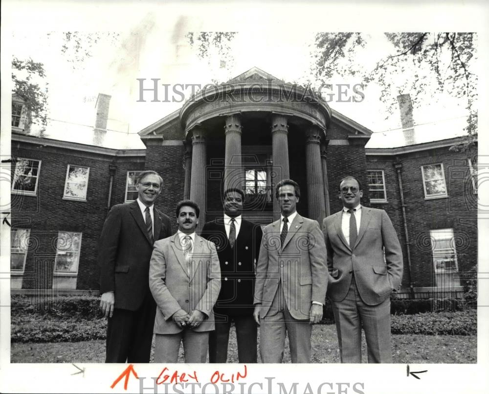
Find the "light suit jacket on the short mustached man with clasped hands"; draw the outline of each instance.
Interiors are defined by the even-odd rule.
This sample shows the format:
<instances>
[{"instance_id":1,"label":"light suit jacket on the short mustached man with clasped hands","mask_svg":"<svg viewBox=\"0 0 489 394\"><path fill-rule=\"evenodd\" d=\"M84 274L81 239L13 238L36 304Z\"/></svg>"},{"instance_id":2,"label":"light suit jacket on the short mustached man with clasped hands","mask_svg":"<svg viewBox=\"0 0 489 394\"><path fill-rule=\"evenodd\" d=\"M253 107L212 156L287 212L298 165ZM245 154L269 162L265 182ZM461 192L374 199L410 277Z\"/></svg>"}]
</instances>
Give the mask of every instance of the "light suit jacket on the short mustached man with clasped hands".
<instances>
[{"instance_id":1,"label":"light suit jacket on the short mustached man with clasped hands","mask_svg":"<svg viewBox=\"0 0 489 394\"><path fill-rule=\"evenodd\" d=\"M187 313L198 309L207 316L195 331L214 329L212 308L221 288L221 270L214 243L195 235L189 274L178 233L156 241L149 284L157 305L155 334L182 331L184 328L179 328L172 319L180 309Z\"/></svg>"}]
</instances>

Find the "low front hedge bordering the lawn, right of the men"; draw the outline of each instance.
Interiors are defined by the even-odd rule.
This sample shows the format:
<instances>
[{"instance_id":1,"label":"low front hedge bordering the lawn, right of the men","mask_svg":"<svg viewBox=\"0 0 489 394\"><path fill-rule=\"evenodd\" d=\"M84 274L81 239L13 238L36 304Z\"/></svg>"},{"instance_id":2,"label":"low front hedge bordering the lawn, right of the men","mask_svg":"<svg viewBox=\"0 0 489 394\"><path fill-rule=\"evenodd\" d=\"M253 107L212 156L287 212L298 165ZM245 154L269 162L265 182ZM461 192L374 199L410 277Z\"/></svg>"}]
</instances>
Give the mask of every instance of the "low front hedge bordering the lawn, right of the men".
<instances>
[{"instance_id":1,"label":"low front hedge bordering the lawn, right of the men","mask_svg":"<svg viewBox=\"0 0 489 394\"><path fill-rule=\"evenodd\" d=\"M392 316L393 334L476 335L477 311L420 313Z\"/></svg>"}]
</instances>

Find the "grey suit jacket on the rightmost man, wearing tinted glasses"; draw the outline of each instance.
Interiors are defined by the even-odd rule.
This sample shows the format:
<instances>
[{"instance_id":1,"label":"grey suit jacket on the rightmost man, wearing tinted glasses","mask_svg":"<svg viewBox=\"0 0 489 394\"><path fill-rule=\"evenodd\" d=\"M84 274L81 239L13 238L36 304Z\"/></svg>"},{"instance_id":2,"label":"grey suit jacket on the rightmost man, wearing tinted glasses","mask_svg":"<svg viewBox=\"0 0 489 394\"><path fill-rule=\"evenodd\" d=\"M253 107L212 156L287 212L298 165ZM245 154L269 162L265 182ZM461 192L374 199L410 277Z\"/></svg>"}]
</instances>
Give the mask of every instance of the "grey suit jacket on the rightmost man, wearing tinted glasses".
<instances>
[{"instance_id":1,"label":"grey suit jacket on the rightmost man, wearing tinted glasses","mask_svg":"<svg viewBox=\"0 0 489 394\"><path fill-rule=\"evenodd\" d=\"M402 252L391 220L383 209L362 206L360 230L354 250L341 231L342 210L323 220L331 281L328 296L342 301L350 288L353 270L363 302L377 305L396 290L402 279ZM385 258L384 258L385 248Z\"/></svg>"}]
</instances>

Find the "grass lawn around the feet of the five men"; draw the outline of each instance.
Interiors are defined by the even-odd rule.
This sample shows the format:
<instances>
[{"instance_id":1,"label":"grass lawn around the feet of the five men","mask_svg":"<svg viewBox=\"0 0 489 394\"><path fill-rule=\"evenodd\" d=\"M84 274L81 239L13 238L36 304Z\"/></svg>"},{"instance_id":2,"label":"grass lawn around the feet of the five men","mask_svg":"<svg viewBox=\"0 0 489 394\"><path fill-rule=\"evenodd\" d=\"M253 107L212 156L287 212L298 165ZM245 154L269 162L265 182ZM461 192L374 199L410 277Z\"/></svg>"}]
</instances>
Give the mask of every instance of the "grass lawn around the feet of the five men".
<instances>
[{"instance_id":1,"label":"grass lawn around the feet of the five men","mask_svg":"<svg viewBox=\"0 0 489 394\"><path fill-rule=\"evenodd\" d=\"M230 335L228 362L238 362L236 336ZM339 350L334 324L314 325L312 329L313 363L339 363ZM392 335L394 363L477 363L476 335ZM12 363L103 363L105 341L12 343ZM153 359L153 356L152 356ZM153 361L153 360L152 360ZM363 344L363 362L366 362ZM180 348L179 362L183 362ZM286 343L284 362L290 363L289 346Z\"/></svg>"}]
</instances>

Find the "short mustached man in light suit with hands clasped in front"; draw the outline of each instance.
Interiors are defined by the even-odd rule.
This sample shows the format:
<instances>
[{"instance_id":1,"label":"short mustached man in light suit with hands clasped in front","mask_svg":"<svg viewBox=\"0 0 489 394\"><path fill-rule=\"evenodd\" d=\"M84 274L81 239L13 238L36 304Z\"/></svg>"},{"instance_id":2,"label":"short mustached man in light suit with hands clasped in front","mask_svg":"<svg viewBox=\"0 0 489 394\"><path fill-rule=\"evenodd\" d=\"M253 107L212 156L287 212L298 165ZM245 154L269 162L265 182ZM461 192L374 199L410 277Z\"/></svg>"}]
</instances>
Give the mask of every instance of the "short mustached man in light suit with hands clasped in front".
<instances>
[{"instance_id":1,"label":"short mustached man in light suit with hands clasped in front","mask_svg":"<svg viewBox=\"0 0 489 394\"><path fill-rule=\"evenodd\" d=\"M156 301L155 362L176 363L183 342L186 363L205 363L212 308L221 289L216 247L195 233L200 209L191 200L177 205L178 232L155 242L149 284Z\"/></svg>"}]
</instances>

